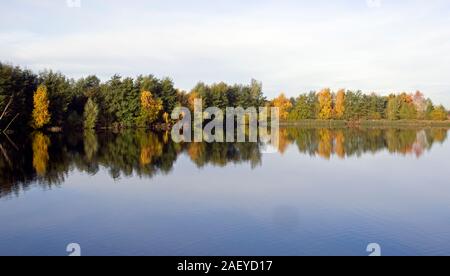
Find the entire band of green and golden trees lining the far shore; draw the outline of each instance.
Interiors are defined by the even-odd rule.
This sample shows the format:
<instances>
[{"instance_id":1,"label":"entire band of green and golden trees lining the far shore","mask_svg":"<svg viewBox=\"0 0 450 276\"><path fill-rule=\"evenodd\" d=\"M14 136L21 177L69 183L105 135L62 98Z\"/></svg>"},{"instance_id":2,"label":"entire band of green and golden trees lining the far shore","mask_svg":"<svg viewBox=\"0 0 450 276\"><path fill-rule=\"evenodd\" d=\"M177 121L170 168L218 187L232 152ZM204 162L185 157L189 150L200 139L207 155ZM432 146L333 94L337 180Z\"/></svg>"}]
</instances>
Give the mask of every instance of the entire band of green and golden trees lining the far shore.
<instances>
[{"instance_id":1,"label":"entire band of green and golden trees lining the far shore","mask_svg":"<svg viewBox=\"0 0 450 276\"><path fill-rule=\"evenodd\" d=\"M106 82L96 76L74 80L61 73L30 70L0 63L0 129L152 128L170 125L177 106L193 108L196 98L204 107L280 108L281 119L317 120L438 120L448 111L421 92L389 96L361 91L323 89L288 99L284 94L268 100L262 84L198 83L191 91L174 87L170 78L153 75Z\"/></svg>"}]
</instances>

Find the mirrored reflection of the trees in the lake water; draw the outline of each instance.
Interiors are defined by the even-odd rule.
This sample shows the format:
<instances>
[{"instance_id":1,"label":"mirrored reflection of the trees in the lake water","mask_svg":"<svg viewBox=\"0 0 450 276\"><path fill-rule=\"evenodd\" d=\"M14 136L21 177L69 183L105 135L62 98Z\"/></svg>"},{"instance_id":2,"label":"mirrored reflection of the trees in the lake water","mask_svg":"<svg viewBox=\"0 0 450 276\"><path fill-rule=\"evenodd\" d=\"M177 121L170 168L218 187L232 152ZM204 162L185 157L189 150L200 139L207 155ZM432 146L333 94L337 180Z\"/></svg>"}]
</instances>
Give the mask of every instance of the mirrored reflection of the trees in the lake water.
<instances>
[{"instance_id":1,"label":"mirrored reflection of the trees in the lake water","mask_svg":"<svg viewBox=\"0 0 450 276\"><path fill-rule=\"evenodd\" d=\"M382 150L419 158L433 144L445 142L447 132L442 128L284 128L280 130L278 152L284 154L294 145L301 154L324 159L360 157ZM230 163L249 163L255 168L262 163L263 149L261 143L177 144L168 132L143 130L66 135L36 132L11 139L1 137L0 145L0 197L18 193L34 182L60 185L74 168L96 174L100 167L105 167L114 179L168 174L181 154L186 154L199 168Z\"/></svg>"}]
</instances>

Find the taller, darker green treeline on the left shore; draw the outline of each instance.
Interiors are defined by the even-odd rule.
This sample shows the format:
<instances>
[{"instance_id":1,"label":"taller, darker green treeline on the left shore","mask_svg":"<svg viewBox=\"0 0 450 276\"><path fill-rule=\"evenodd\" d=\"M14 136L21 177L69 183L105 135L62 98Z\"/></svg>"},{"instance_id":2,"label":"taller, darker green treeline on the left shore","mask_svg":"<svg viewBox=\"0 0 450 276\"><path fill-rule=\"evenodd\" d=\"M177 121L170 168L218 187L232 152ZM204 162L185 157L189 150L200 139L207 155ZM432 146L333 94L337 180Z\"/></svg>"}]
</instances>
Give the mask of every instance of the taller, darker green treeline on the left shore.
<instances>
[{"instance_id":1,"label":"taller, darker green treeline on the left shore","mask_svg":"<svg viewBox=\"0 0 450 276\"><path fill-rule=\"evenodd\" d=\"M203 98L205 106L263 106L262 85L211 86L199 83L187 93L174 87L169 78L153 75L123 78L115 75L106 82L96 76L79 80L61 73L30 70L0 63L0 128L63 127L150 127L170 124L176 106L193 106Z\"/></svg>"}]
</instances>

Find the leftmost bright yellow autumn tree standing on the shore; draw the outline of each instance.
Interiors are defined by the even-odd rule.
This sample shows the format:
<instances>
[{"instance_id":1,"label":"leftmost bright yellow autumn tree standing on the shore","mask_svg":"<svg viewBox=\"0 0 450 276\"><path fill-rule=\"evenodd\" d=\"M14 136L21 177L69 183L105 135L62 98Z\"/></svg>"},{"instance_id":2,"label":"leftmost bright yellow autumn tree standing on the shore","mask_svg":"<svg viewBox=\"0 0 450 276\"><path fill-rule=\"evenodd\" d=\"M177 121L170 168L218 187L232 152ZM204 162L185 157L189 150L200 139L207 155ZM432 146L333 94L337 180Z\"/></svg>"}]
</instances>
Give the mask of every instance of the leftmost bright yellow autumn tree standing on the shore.
<instances>
[{"instance_id":1,"label":"leftmost bright yellow autumn tree standing on the shore","mask_svg":"<svg viewBox=\"0 0 450 276\"><path fill-rule=\"evenodd\" d=\"M47 87L45 85L39 85L34 93L33 103L32 126L34 129L40 129L50 123L51 118L48 110L50 101L48 100Z\"/></svg>"}]
</instances>

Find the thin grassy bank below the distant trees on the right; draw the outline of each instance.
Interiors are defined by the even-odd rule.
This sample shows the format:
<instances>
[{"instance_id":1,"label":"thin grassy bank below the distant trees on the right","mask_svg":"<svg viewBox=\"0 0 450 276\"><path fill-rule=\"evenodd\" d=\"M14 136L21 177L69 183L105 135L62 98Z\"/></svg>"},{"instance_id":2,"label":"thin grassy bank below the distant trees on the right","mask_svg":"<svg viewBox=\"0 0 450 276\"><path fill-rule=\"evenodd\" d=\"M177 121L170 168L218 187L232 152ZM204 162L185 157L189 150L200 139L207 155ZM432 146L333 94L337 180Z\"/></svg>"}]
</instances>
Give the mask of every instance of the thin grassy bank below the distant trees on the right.
<instances>
[{"instance_id":1,"label":"thin grassy bank below the distant trees on the right","mask_svg":"<svg viewBox=\"0 0 450 276\"><path fill-rule=\"evenodd\" d=\"M425 120L361 120L361 121L344 121L344 120L301 120L301 121L284 121L281 126L298 126L298 127L326 127L326 128L342 128L342 127L362 127L362 128L426 128L426 127L448 127L450 128L450 120L447 121L425 121Z\"/></svg>"}]
</instances>

